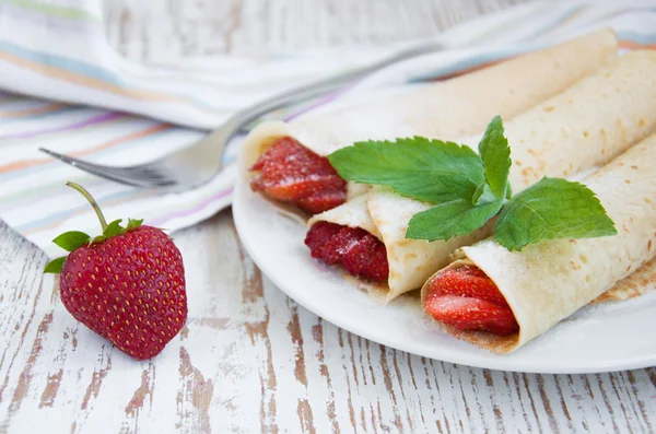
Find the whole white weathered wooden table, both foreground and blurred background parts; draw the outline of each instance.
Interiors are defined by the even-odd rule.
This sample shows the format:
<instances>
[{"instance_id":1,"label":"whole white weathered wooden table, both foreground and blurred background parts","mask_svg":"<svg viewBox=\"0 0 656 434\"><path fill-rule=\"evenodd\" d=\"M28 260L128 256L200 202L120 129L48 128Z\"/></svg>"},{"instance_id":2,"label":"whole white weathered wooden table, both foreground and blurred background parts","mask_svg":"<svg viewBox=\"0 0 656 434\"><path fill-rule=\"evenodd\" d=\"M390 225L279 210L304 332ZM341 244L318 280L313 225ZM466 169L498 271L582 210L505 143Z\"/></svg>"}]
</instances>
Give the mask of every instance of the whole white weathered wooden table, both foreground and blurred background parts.
<instances>
[{"instance_id":1,"label":"whole white weathered wooden table, both foreground and blurred background parts","mask_svg":"<svg viewBox=\"0 0 656 434\"><path fill-rule=\"evenodd\" d=\"M506 0L221 0L106 5L139 60L438 34ZM134 362L63 308L46 257L0 222L0 432L654 432L656 370L531 375L458 366L359 338L277 290L231 211L175 235L189 320ZM647 330L645 332L652 332Z\"/></svg>"}]
</instances>

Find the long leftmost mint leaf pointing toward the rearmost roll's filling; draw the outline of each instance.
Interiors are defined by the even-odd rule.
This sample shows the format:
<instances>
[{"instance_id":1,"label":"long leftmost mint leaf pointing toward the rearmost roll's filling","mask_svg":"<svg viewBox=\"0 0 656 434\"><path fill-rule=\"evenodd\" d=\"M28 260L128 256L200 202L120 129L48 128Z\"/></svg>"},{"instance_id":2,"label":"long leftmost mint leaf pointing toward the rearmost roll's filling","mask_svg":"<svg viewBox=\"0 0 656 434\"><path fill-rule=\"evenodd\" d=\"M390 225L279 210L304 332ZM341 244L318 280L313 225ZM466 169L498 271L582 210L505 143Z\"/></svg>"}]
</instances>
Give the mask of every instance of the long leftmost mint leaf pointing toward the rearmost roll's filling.
<instances>
[{"instance_id":1,"label":"long leftmost mint leaf pointing toward the rearmost roll's filling","mask_svg":"<svg viewBox=\"0 0 656 434\"><path fill-rule=\"evenodd\" d=\"M483 184L483 165L470 148L421 137L359 142L328 155L348 180L390 186L412 199L471 201Z\"/></svg>"}]
</instances>

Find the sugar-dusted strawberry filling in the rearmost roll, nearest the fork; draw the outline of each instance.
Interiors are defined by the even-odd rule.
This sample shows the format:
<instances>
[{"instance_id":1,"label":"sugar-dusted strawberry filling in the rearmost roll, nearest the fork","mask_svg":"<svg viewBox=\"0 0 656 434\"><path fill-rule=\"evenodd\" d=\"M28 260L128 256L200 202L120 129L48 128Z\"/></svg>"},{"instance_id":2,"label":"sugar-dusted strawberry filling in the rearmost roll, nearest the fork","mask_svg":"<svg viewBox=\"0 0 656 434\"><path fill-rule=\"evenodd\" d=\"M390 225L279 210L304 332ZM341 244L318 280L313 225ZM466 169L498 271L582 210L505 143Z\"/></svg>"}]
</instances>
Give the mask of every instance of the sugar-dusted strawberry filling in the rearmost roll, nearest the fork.
<instances>
[{"instance_id":1,"label":"sugar-dusted strawberry filling in the rearmost roll, nearest the fork","mask_svg":"<svg viewBox=\"0 0 656 434\"><path fill-rule=\"evenodd\" d=\"M250 187L272 199L317 214L347 200L347 181L328 159L285 137L260 155L250 171Z\"/></svg>"}]
</instances>

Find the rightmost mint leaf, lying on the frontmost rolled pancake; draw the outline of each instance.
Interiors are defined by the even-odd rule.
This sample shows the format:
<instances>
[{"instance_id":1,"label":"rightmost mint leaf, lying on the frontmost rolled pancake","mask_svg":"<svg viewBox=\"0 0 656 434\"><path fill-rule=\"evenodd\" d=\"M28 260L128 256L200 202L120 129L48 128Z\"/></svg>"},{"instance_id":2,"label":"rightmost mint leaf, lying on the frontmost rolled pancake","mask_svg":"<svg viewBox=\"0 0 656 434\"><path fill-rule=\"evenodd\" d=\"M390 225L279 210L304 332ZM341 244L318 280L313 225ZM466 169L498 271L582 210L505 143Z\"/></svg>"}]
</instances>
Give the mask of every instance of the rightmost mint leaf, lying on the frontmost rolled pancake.
<instances>
[{"instance_id":1,"label":"rightmost mint leaf, lying on the frontmost rolled pancake","mask_svg":"<svg viewBox=\"0 0 656 434\"><path fill-rule=\"evenodd\" d=\"M504 207L494 237L508 250L557 238L616 235L612 220L595 196L579 183L542 178Z\"/></svg>"}]
</instances>

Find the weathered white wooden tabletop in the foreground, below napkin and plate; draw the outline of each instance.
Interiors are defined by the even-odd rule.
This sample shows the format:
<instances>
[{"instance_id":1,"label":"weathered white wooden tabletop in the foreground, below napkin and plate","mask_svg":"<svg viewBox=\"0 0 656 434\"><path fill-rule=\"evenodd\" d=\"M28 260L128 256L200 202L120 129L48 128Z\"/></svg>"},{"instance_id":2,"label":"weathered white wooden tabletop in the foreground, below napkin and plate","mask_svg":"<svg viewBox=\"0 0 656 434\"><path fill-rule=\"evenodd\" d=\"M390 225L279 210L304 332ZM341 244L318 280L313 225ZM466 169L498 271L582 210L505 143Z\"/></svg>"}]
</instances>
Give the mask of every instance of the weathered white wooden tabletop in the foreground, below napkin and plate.
<instances>
[{"instance_id":1,"label":"weathered white wooden tabletop in the foreground, below napkin and plate","mask_svg":"<svg viewBox=\"0 0 656 434\"><path fill-rule=\"evenodd\" d=\"M176 235L195 265L190 318L151 362L129 360L78 326L52 280L38 284L45 258L5 226L0 236L0 260L11 270L0 286L0 432L35 421L83 432L653 430L653 368L490 372L395 351L323 321L262 282L230 212Z\"/></svg>"}]
</instances>

